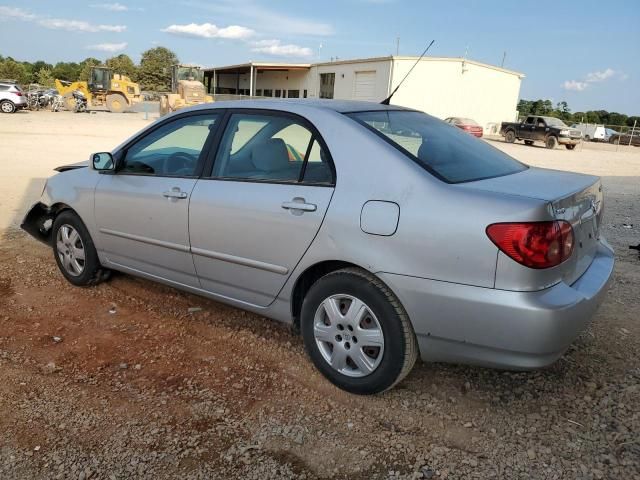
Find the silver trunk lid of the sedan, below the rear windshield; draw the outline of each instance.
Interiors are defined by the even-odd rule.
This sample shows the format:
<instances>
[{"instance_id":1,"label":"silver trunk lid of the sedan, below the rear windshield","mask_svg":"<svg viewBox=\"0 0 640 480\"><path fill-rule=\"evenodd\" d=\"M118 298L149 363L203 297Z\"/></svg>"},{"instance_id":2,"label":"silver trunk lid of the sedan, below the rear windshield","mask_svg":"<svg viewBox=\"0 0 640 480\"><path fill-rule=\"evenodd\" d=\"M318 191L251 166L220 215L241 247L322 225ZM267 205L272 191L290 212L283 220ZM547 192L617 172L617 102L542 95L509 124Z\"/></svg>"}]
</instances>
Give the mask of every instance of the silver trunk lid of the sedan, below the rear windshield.
<instances>
[{"instance_id":1,"label":"silver trunk lid of the sedan, below the rear windshield","mask_svg":"<svg viewBox=\"0 0 640 480\"><path fill-rule=\"evenodd\" d=\"M554 270L559 279L571 285L591 265L598 247L603 214L602 184L599 177L531 167L513 175L459 186L547 202L551 215L569 222L574 233L571 258L549 270ZM518 220L528 219L513 219ZM545 276L549 273L551 272L546 272Z\"/></svg>"}]
</instances>

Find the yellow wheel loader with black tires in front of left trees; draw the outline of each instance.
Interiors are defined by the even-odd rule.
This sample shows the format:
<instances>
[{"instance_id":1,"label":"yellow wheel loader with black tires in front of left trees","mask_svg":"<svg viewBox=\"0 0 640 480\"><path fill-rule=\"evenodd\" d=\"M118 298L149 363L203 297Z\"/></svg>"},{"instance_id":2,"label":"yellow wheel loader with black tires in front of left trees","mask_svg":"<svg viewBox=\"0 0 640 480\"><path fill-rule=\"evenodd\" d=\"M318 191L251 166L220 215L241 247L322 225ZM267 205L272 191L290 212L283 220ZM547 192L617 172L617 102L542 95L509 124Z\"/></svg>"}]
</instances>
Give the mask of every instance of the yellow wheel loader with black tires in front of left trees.
<instances>
[{"instance_id":1,"label":"yellow wheel loader with black tires in front of left trees","mask_svg":"<svg viewBox=\"0 0 640 480\"><path fill-rule=\"evenodd\" d=\"M80 90L89 108L106 107L110 112L121 113L142 101L140 86L129 77L113 74L107 67L92 67L88 82L65 82L56 79L56 89L64 98L67 110L73 110L72 92Z\"/></svg>"}]
</instances>

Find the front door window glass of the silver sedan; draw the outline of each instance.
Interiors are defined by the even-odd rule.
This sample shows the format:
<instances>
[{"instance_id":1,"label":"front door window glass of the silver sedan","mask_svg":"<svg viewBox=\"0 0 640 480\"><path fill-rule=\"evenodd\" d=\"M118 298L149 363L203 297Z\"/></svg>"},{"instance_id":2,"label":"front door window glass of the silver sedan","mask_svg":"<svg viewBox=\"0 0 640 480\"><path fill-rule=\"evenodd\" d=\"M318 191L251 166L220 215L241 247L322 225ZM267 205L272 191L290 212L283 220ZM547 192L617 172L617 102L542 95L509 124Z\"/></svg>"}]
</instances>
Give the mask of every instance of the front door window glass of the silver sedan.
<instances>
[{"instance_id":1,"label":"front door window glass of the silver sedan","mask_svg":"<svg viewBox=\"0 0 640 480\"><path fill-rule=\"evenodd\" d=\"M127 149L120 173L191 177L212 134L218 114L192 115L169 122Z\"/></svg>"}]
</instances>

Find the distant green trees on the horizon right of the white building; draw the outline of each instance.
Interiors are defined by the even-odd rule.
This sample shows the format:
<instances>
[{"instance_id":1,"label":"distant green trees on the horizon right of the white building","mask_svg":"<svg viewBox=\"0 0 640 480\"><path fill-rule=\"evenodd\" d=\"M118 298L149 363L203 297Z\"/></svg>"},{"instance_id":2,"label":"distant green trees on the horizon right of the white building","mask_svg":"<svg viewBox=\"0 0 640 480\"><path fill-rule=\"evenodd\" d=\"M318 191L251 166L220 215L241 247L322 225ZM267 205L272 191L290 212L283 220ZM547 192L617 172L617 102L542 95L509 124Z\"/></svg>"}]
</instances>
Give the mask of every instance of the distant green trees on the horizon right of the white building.
<instances>
[{"instance_id":1,"label":"distant green trees on the horizon right of the white building","mask_svg":"<svg viewBox=\"0 0 640 480\"><path fill-rule=\"evenodd\" d=\"M562 119L565 123L598 123L633 127L634 122L640 125L640 116L606 110L589 110L587 112L571 112L567 102L558 102L555 107L551 100L520 100L518 102L520 117L527 115L547 115Z\"/></svg>"}]
</instances>

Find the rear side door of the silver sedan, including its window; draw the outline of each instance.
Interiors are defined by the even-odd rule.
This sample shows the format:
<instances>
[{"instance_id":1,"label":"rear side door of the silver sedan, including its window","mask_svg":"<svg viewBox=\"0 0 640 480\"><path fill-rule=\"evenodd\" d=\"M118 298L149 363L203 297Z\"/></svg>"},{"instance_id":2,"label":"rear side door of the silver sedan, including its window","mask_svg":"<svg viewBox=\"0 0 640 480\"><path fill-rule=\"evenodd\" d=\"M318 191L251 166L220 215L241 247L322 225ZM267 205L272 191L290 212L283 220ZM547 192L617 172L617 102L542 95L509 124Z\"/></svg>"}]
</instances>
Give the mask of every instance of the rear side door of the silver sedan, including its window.
<instances>
[{"instance_id":1,"label":"rear side door of the silver sedan, including its window","mask_svg":"<svg viewBox=\"0 0 640 480\"><path fill-rule=\"evenodd\" d=\"M315 238L333 185L326 145L308 122L282 112L231 113L211 175L191 196L202 288L270 304Z\"/></svg>"}]
</instances>

